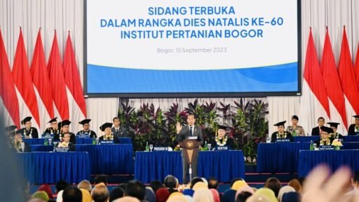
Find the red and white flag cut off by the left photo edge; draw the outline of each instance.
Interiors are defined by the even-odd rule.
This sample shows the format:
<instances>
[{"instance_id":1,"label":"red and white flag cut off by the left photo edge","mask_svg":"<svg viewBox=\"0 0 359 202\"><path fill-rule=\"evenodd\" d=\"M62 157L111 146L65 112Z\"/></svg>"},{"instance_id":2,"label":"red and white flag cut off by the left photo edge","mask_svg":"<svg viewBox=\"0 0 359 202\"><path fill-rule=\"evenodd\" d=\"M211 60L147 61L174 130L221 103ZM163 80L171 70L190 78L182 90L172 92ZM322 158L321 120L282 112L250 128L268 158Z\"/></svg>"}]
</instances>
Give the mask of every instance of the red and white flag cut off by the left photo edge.
<instances>
[{"instance_id":1,"label":"red and white flag cut off by the left photo edge","mask_svg":"<svg viewBox=\"0 0 359 202\"><path fill-rule=\"evenodd\" d=\"M16 95L13 76L11 75L8 55L6 54L3 35L0 29L0 112L4 115L6 126L15 125L20 127L20 113L18 96ZM4 106L4 107L3 107Z\"/></svg>"}]
</instances>

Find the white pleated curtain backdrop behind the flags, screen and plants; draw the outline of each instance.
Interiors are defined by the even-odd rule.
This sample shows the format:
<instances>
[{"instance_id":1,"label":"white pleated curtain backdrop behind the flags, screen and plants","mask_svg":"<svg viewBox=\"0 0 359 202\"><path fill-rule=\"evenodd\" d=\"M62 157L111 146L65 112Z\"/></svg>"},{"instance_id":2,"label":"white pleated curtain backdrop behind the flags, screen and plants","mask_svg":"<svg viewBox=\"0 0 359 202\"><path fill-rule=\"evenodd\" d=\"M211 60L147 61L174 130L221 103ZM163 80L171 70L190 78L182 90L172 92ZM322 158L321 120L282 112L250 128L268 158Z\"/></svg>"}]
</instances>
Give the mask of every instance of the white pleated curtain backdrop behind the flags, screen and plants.
<instances>
[{"instance_id":1,"label":"white pleated curtain backdrop behind the flags, screen and plants","mask_svg":"<svg viewBox=\"0 0 359 202\"><path fill-rule=\"evenodd\" d=\"M325 27L328 27L335 60L338 64L344 25L346 25L348 43L353 58L355 57L359 41L359 1L302 0L302 67L304 67L309 27L312 27L318 58L321 58L323 52ZM70 31L81 82L83 82L83 0L0 0L0 29L6 43L11 67L13 65L20 26L24 34L29 62L31 62L36 34L40 27L46 60L48 60L50 53L54 29L57 30L62 57L66 36L68 31ZM305 119L300 117L299 96L266 97L263 99L269 102L269 133L276 129L273 127L274 123L284 120L290 121L290 116L293 114L299 114L299 119ZM210 102L211 100L214 102L233 103L233 100L239 99L203 98L199 101L202 103ZM167 109L168 106L172 105L172 102L179 102L179 105L185 107L187 102L193 102L194 99L130 99L129 101L135 107L139 107L142 102L153 102L154 105ZM112 118L117 114L118 98L87 98L86 103L88 117L93 119L91 128L96 132L99 132L97 128L101 123L111 122ZM78 120L72 121L76 123ZM316 126L316 123L313 123L314 126ZM306 133L308 133L308 128L305 129Z\"/></svg>"}]
</instances>

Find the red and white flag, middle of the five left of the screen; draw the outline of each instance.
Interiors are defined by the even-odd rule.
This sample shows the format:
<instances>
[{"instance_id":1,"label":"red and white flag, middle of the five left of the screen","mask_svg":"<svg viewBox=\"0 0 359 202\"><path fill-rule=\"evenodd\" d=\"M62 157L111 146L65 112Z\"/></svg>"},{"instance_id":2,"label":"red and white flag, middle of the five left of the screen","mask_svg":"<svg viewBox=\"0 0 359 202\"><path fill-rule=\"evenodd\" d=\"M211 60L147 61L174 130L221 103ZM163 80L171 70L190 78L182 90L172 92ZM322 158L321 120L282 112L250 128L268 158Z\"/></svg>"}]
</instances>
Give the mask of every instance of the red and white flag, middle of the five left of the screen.
<instances>
[{"instance_id":1,"label":"red and white flag, middle of the five left of the screen","mask_svg":"<svg viewBox=\"0 0 359 202\"><path fill-rule=\"evenodd\" d=\"M46 68L45 53L41 39L41 30L37 34L34 55L30 67L32 81L35 86L37 103L39 106L41 131L45 130L46 123L54 117L53 96L51 94L50 81L48 80L48 69Z\"/></svg>"}]
</instances>

